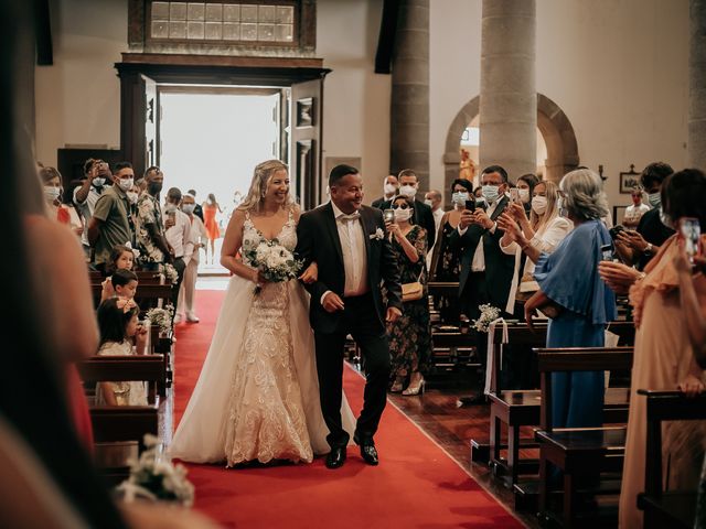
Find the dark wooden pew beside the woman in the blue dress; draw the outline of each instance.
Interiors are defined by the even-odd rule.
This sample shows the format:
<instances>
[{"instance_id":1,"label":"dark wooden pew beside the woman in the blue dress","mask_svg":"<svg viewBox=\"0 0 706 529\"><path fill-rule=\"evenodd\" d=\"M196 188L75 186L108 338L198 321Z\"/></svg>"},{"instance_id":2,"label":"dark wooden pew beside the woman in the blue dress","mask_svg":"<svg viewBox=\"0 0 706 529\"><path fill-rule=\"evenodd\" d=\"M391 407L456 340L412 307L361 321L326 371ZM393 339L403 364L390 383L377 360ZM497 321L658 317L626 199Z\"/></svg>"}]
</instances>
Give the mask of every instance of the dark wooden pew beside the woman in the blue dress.
<instances>
[{"instance_id":1,"label":"dark wooden pew beside the woman in the blue dress","mask_svg":"<svg viewBox=\"0 0 706 529\"><path fill-rule=\"evenodd\" d=\"M542 430L535 433L539 443L539 521L545 525L573 527L577 522L576 493L582 477L597 477L601 472L622 471L625 427L563 428L552 424L552 374L566 371L625 371L632 366L632 347L589 347L537 349L542 381L539 419ZM627 388L625 388L627 389ZM629 391L629 390L628 390ZM625 393L627 397L627 393ZM607 403L609 398L606 399ZM613 410L611 422L627 422L628 402ZM561 471L563 511L549 510L549 465ZM618 494L616 487L596 488L601 494ZM617 515L617 510L610 514ZM591 521L595 527L595 521Z\"/></svg>"}]
</instances>

